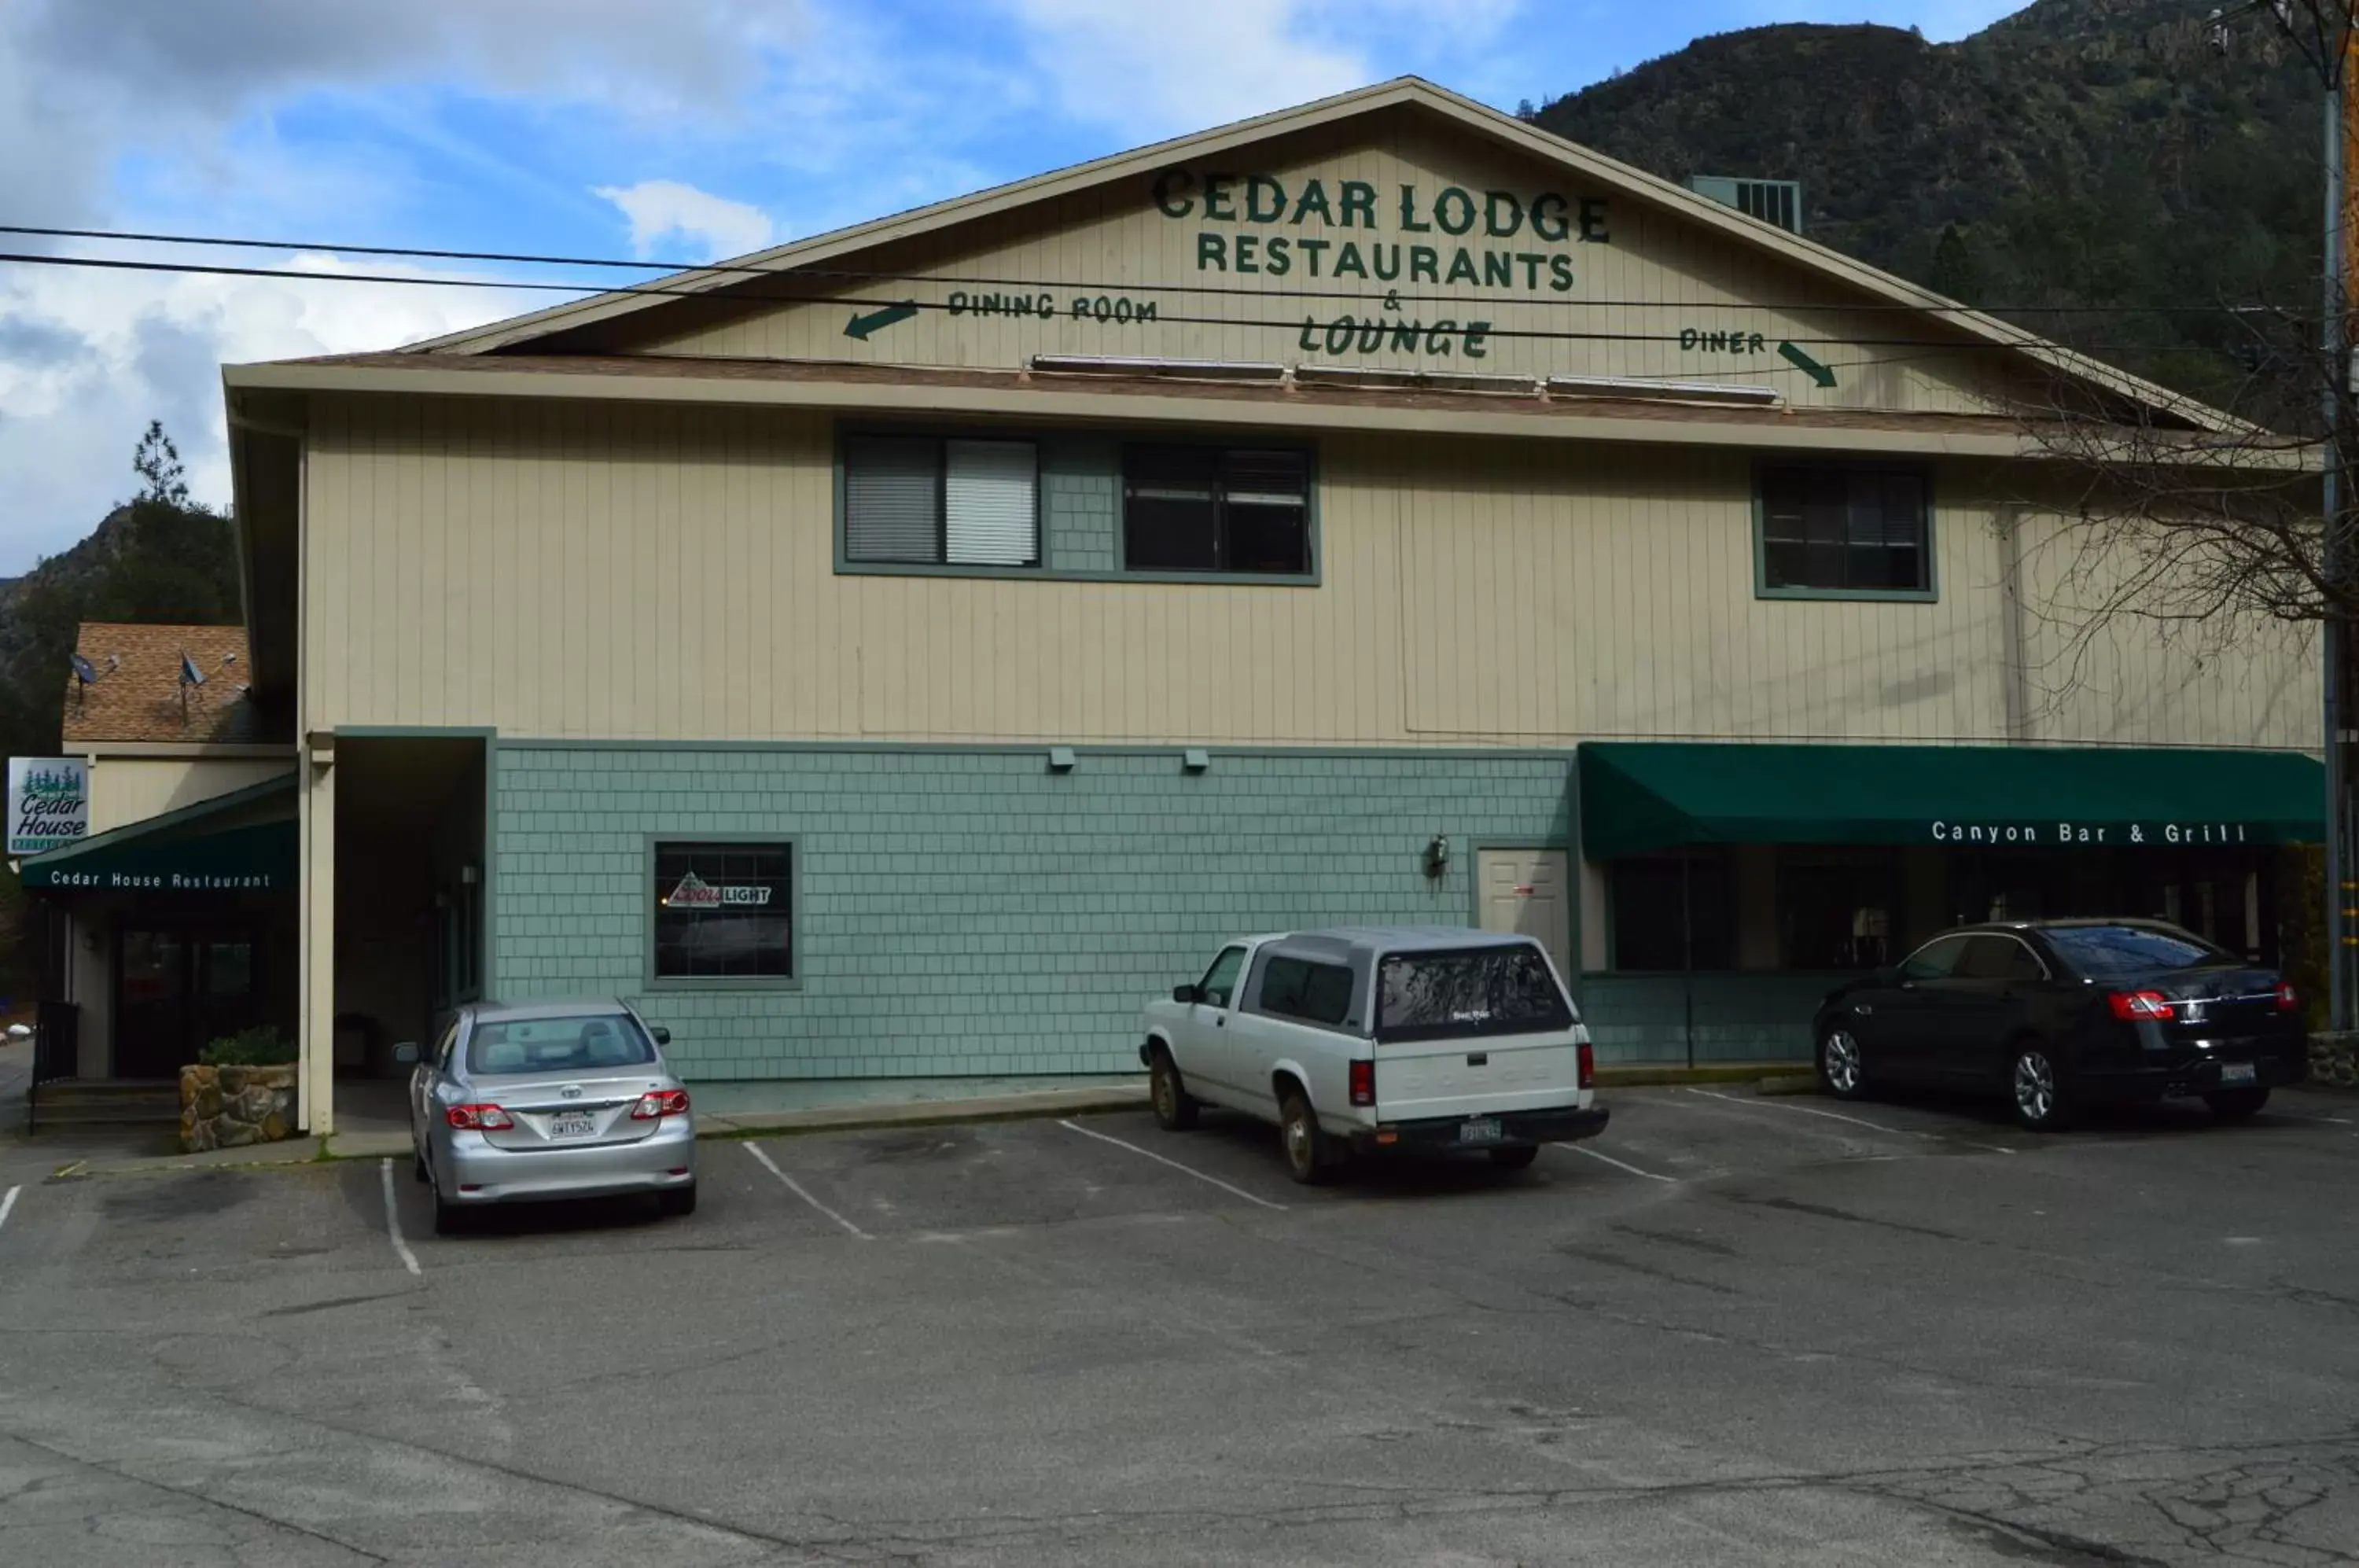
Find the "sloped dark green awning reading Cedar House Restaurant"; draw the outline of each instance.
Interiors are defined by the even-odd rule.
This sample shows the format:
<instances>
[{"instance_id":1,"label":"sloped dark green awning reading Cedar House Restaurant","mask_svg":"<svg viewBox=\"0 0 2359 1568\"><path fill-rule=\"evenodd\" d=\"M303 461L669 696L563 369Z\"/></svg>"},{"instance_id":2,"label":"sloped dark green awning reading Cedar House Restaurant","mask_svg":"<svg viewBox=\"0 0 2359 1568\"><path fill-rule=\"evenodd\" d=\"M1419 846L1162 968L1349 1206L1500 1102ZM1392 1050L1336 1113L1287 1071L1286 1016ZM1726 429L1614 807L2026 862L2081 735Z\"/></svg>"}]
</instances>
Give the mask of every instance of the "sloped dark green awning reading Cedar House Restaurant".
<instances>
[{"instance_id":1,"label":"sloped dark green awning reading Cedar House Restaurant","mask_svg":"<svg viewBox=\"0 0 2359 1568\"><path fill-rule=\"evenodd\" d=\"M165 811L24 861L28 889L241 894L293 891L295 778Z\"/></svg>"}]
</instances>

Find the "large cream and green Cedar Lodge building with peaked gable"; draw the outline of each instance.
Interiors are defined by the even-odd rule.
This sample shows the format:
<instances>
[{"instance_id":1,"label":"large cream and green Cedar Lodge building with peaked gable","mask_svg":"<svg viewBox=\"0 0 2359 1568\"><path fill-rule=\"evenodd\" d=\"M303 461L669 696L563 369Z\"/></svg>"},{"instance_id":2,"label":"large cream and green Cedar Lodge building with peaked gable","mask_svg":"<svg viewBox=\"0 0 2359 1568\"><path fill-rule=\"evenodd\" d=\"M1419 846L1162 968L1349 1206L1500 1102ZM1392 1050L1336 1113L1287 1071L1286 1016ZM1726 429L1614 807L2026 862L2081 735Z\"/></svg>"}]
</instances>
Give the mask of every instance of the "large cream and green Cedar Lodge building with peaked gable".
<instances>
[{"instance_id":1,"label":"large cream and green Cedar Lodge building with peaked gable","mask_svg":"<svg viewBox=\"0 0 2359 1568\"><path fill-rule=\"evenodd\" d=\"M2279 957L2314 653L2085 634L2057 382L2234 434L1420 80L231 365L309 1125L477 993L925 1078L1309 922L1538 931L1604 1059L1993 910Z\"/></svg>"}]
</instances>

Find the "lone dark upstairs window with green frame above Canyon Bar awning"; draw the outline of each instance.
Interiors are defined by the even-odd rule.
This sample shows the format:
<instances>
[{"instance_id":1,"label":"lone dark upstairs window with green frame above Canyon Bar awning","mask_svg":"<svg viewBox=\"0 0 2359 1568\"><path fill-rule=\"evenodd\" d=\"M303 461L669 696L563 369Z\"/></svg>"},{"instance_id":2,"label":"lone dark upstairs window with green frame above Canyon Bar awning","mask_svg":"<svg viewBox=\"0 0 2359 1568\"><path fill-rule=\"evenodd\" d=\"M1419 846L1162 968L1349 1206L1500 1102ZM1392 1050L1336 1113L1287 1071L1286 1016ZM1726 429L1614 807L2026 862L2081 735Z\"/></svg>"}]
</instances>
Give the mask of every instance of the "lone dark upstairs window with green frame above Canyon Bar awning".
<instances>
[{"instance_id":1,"label":"lone dark upstairs window with green frame above Canyon Bar awning","mask_svg":"<svg viewBox=\"0 0 2359 1568\"><path fill-rule=\"evenodd\" d=\"M1762 585L1908 592L1932 587L1925 476L1894 469L1762 469Z\"/></svg>"}]
</instances>

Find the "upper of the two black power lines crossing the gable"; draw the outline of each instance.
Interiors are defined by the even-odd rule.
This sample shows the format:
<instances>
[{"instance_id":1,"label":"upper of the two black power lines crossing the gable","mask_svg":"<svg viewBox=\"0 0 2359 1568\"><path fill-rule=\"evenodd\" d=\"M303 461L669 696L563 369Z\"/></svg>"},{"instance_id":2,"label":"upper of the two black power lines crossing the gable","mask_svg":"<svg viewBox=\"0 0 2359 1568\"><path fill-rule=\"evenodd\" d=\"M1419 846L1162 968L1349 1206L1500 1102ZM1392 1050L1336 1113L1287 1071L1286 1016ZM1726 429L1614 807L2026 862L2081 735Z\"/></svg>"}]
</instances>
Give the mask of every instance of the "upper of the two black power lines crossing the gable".
<instances>
[{"instance_id":1,"label":"upper of the two black power lines crossing the gable","mask_svg":"<svg viewBox=\"0 0 2359 1568\"><path fill-rule=\"evenodd\" d=\"M639 262L623 257L569 257L569 255L533 255L517 250L429 250L420 245L333 245L318 241L257 241L243 236L201 236L201 233L142 233L127 229L45 229L38 224L0 224L0 233L21 233L31 238L61 238L61 241L116 241L125 245L217 245L224 250L316 250L328 255L361 255L361 257L418 257L432 262L505 262L519 266L611 266L630 271L677 271L677 274L727 274L738 278L835 278L835 281L861 281L861 283L953 283L953 285L986 285L986 288L1085 288L1085 290L1137 290L1156 295L1238 295L1248 299L1364 299L1366 290L1321 290L1321 288L1246 288L1238 283L1137 283L1137 281L1043 281L1043 278L977 278L977 276L951 276L951 274L922 274L922 271L873 271L854 266L748 266L743 262ZM1345 241L1338 241L1345 243ZM5 257L17 259L17 257ZM304 274L309 276L309 274ZM566 292L651 292L656 285L632 285L632 283L505 283L500 288L561 288ZM1371 285L1373 288L1373 285ZM686 292L708 297L710 288L696 290L663 290L663 292ZM1465 295L1415 295L1389 290L1392 297L1406 304L1467 304ZM1510 304L1545 304L1552 309L1661 309L1661 299L1514 299ZM1696 309L1732 309L1732 307L1696 307ZM1875 302L1864 299L1857 304L1828 304L1826 299L1802 302L1802 304L1776 304L1776 302L1746 302L1748 311L1847 311L1847 314L1913 314L1913 316L1939 316L1953 318L1960 314L2015 314L2015 316L2222 316L2232 314L2236 307L2222 304L1904 304L1904 302Z\"/></svg>"}]
</instances>

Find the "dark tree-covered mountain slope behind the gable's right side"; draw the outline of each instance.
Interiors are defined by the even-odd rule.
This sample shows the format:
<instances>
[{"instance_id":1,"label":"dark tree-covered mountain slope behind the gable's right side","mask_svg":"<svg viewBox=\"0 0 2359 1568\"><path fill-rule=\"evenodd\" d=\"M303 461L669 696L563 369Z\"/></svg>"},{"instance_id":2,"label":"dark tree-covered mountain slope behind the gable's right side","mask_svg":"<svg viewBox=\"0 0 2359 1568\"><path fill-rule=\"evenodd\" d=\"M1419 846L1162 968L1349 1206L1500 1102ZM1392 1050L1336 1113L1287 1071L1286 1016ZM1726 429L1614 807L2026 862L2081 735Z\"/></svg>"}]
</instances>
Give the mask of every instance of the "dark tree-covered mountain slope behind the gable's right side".
<instances>
[{"instance_id":1,"label":"dark tree-covered mountain slope behind the gable's right side","mask_svg":"<svg viewBox=\"0 0 2359 1568\"><path fill-rule=\"evenodd\" d=\"M2300 325L2187 307L2314 311L2319 99L2267 17L2220 54L2182 0L2038 0L1953 45L1698 38L1533 123L1668 179L1800 179L1812 238L2232 403Z\"/></svg>"}]
</instances>

